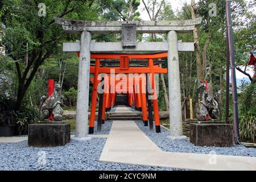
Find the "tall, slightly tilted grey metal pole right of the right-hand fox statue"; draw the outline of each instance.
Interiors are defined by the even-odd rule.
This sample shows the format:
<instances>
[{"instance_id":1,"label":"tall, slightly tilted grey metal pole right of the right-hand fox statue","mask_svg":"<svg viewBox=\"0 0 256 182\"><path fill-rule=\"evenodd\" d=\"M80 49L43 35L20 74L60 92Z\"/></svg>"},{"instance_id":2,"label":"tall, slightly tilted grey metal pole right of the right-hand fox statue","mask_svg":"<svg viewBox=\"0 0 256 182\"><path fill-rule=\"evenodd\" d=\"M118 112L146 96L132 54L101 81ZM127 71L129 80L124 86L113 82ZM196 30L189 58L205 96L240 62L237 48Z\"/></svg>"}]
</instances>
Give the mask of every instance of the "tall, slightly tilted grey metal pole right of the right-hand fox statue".
<instances>
[{"instance_id":1,"label":"tall, slightly tilted grey metal pole right of the right-hand fox statue","mask_svg":"<svg viewBox=\"0 0 256 182\"><path fill-rule=\"evenodd\" d=\"M233 44L233 29L230 0L226 0L226 18L228 27L228 43L229 43L229 60L231 65L232 77L232 97L233 97L233 119L234 119L234 141L239 144L239 121L238 121L238 102L237 102L237 81L236 81L236 64L234 61L234 44Z\"/></svg>"}]
</instances>

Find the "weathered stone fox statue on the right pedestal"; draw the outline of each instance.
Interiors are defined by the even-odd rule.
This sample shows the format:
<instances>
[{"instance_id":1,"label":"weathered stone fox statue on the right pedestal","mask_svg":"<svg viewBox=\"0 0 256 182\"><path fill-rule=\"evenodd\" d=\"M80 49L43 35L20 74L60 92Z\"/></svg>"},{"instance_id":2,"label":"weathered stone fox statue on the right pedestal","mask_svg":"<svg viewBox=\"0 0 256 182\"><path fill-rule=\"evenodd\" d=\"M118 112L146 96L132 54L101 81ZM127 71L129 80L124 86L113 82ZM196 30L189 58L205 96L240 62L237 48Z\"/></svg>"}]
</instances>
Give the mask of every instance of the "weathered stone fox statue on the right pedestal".
<instances>
[{"instance_id":1,"label":"weathered stone fox statue on the right pedestal","mask_svg":"<svg viewBox=\"0 0 256 182\"><path fill-rule=\"evenodd\" d=\"M220 111L218 102L206 91L204 83L200 84L199 89L201 90L201 101L200 107L196 112L197 119L199 121L206 121L208 114L212 119L219 119Z\"/></svg>"}]
</instances>

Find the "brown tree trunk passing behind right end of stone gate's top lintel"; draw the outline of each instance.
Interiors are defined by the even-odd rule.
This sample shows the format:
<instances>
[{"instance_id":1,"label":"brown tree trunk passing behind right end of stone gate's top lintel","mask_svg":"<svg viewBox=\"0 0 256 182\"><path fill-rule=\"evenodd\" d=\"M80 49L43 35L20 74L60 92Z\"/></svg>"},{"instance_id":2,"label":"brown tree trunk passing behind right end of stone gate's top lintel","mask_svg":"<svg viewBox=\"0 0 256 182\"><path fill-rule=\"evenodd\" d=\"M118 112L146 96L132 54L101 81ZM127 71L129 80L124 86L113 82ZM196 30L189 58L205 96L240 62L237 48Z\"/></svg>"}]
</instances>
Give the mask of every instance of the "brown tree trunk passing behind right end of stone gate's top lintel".
<instances>
[{"instance_id":1,"label":"brown tree trunk passing behind right end of stone gate's top lintel","mask_svg":"<svg viewBox=\"0 0 256 182\"><path fill-rule=\"evenodd\" d=\"M195 0L191 0L191 15L192 15L192 19L196 18ZM203 78L203 74L202 74L202 63L201 63L201 56L200 56L200 46L199 46L199 37L197 33L197 27L194 28L193 35L194 35L194 44L196 49L196 77L197 77L197 85L199 86L200 81Z\"/></svg>"}]
</instances>

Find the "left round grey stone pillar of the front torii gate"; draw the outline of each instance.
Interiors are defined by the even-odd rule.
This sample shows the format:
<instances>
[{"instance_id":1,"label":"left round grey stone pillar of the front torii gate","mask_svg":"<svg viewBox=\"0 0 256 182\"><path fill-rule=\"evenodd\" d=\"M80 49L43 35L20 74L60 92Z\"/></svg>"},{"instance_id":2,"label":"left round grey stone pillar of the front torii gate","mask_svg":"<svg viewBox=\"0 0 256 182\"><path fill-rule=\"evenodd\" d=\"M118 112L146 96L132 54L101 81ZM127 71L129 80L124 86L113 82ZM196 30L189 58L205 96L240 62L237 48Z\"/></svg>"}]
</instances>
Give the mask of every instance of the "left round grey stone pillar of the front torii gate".
<instances>
[{"instance_id":1,"label":"left round grey stone pillar of the front torii gate","mask_svg":"<svg viewBox=\"0 0 256 182\"><path fill-rule=\"evenodd\" d=\"M80 41L79 78L77 85L76 134L74 140L89 140L88 108L90 78L90 40L91 33L83 31Z\"/></svg>"}]
</instances>

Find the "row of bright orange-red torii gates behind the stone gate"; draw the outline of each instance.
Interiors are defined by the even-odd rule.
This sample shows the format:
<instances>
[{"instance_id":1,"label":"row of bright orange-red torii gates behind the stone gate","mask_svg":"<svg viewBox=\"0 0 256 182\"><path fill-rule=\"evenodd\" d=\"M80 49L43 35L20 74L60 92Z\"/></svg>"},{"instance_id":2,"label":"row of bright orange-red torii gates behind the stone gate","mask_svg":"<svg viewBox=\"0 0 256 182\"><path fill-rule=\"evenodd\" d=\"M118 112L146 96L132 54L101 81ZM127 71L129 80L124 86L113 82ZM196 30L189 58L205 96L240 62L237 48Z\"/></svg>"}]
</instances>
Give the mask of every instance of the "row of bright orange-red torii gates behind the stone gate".
<instances>
[{"instance_id":1,"label":"row of bright orange-red torii gates behind the stone gate","mask_svg":"<svg viewBox=\"0 0 256 182\"><path fill-rule=\"evenodd\" d=\"M160 133L155 73L167 73L167 68L161 68L159 64L162 62L155 60L154 63L154 59L166 57L166 52L151 54L91 53L91 58L95 59L95 64L90 66L90 73L93 73L94 77L90 78L90 81L93 82L93 91L90 109L89 134L92 134L94 131L98 85L104 88L104 90L102 90L104 92L100 93L97 130L101 130L101 124L105 122L105 111L109 111L115 106L116 95L126 94L127 105L132 107L134 104L136 110L142 111L144 126L148 126L149 117L151 130L153 128L152 111L154 110L155 130L156 133ZM101 59L119 59L119 67L116 65L114 65L114 67L111 65L100 67ZM147 66L130 66L129 60L132 59L136 59L137 64L146 63ZM143 61L145 59L146 61ZM115 62L110 61L108 63ZM101 73L104 73L105 75L101 77ZM120 73L122 74L120 75ZM135 75L131 73L135 73ZM102 84L100 84L100 82L102 82Z\"/></svg>"}]
</instances>

